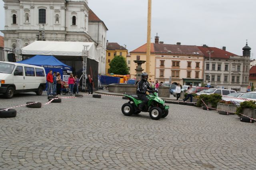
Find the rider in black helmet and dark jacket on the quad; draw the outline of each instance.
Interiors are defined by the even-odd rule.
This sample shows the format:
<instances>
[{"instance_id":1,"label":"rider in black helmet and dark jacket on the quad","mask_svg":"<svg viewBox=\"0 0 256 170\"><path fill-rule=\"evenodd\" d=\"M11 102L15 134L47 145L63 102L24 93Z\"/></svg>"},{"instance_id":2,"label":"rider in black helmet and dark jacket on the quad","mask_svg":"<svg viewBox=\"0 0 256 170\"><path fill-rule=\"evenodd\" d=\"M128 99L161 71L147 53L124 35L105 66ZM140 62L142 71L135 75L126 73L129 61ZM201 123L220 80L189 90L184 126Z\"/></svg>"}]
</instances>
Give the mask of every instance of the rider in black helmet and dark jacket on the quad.
<instances>
[{"instance_id":1,"label":"rider in black helmet and dark jacket on the quad","mask_svg":"<svg viewBox=\"0 0 256 170\"><path fill-rule=\"evenodd\" d=\"M147 103L148 103L148 98L146 97L146 92L148 91L148 89L154 91L154 89L152 87L150 87L149 83L148 83L148 74L147 73L142 73L140 75L141 80L138 82L137 84L137 95L138 98L143 100L143 102L139 105L140 110L142 110L142 108L145 106L147 109Z\"/></svg>"}]
</instances>

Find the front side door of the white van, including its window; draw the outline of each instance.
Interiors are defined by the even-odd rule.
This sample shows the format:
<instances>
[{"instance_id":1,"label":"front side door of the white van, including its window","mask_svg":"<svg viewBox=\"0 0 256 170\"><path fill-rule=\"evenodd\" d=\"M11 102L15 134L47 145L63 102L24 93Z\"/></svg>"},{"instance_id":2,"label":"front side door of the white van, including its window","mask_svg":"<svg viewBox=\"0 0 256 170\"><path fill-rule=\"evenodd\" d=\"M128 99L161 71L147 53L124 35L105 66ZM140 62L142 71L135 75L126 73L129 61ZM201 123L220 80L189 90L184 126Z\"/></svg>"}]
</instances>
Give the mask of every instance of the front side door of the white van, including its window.
<instances>
[{"instance_id":1,"label":"front side door of the white van, including its window","mask_svg":"<svg viewBox=\"0 0 256 170\"><path fill-rule=\"evenodd\" d=\"M23 90L25 87L24 83L24 70L22 66L17 66L13 73L13 83L16 87L16 90Z\"/></svg>"}]
</instances>

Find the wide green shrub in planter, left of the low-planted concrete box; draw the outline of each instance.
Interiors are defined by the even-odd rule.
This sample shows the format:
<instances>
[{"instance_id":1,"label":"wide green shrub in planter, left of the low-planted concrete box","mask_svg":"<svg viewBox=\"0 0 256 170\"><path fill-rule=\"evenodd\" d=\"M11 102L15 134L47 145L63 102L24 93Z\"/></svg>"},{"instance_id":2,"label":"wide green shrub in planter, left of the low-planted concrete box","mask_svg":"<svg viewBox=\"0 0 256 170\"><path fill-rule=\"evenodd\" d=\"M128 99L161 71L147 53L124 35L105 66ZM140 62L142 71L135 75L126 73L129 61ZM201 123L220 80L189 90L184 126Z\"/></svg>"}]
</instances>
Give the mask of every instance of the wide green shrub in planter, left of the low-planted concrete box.
<instances>
[{"instance_id":1,"label":"wide green shrub in planter, left of the low-planted concrete box","mask_svg":"<svg viewBox=\"0 0 256 170\"><path fill-rule=\"evenodd\" d=\"M197 101L196 105L198 107L211 104L213 108L217 108L217 103L221 101L222 96L218 94L211 94L211 95L200 95L199 100ZM202 102L204 101L204 103Z\"/></svg>"}]
</instances>

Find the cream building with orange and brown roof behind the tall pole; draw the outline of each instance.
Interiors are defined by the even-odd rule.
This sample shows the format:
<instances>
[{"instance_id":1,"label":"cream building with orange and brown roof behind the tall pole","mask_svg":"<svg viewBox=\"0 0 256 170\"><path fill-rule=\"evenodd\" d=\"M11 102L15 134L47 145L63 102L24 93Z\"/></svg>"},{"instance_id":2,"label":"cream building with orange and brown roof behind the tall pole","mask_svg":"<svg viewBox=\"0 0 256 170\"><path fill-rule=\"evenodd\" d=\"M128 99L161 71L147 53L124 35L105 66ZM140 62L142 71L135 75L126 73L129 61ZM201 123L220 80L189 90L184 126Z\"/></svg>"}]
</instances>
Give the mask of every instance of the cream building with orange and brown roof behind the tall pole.
<instances>
[{"instance_id":1,"label":"cream building with orange and brown roof behind the tall pole","mask_svg":"<svg viewBox=\"0 0 256 170\"><path fill-rule=\"evenodd\" d=\"M181 43L164 44L151 43L150 79L164 83L192 84L198 86L203 82L204 55L195 45L181 45ZM130 52L131 60L146 60L146 44ZM135 69L131 65L131 76L135 77ZM146 64L142 64L146 70Z\"/></svg>"}]
</instances>

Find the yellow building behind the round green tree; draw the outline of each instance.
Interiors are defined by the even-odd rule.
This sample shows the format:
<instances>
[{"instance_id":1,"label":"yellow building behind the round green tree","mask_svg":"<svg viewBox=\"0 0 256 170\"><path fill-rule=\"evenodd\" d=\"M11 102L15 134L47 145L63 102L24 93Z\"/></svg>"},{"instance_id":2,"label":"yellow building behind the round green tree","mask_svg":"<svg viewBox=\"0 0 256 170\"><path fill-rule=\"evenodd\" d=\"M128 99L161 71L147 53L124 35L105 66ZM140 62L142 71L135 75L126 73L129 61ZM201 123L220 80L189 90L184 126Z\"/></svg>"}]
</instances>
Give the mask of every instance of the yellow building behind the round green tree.
<instances>
[{"instance_id":1,"label":"yellow building behind the round green tree","mask_svg":"<svg viewBox=\"0 0 256 170\"><path fill-rule=\"evenodd\" d=\"M106 74L109 74L109 63L116 55L121 55L125 58L128 54L128 50L123 47L122 45L119 45L118 43L109 43L107 40L107 51L106 51Z\"/></svg>"}]
</instances>

